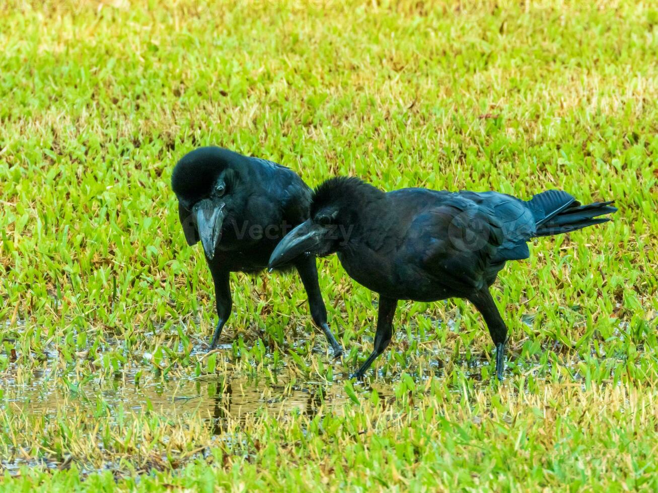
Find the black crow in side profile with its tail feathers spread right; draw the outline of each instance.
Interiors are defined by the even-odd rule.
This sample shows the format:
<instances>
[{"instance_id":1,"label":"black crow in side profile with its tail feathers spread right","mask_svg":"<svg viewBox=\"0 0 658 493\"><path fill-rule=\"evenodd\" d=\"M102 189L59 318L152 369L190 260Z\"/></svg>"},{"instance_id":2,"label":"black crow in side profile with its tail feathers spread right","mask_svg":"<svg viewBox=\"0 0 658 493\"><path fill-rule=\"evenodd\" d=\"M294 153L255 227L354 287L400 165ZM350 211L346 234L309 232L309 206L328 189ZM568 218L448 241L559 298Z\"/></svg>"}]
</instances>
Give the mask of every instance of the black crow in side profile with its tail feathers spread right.
<instances>
[{"instance_id":1,"label":"black crow in side profile with its tail feathers spread right","mask_svg":"<svg viewBox=\"0 0 658 493\"><path fill-rule=\"evenodd\" d=\"M269 267L304 253L338 252L345 271L380 294L374 350L363 377L392 337L397 300L430 302L457 296L478 308L496 347L502 379L507 327L489 287L507 260L528 258L526 242L608 221L612 202L581 206L550 190L527 202L497 192L450 193L408 188L384 193L353 177L336 177L313 195L311 218L277 245Z\"/></svg>"}]
</instances>

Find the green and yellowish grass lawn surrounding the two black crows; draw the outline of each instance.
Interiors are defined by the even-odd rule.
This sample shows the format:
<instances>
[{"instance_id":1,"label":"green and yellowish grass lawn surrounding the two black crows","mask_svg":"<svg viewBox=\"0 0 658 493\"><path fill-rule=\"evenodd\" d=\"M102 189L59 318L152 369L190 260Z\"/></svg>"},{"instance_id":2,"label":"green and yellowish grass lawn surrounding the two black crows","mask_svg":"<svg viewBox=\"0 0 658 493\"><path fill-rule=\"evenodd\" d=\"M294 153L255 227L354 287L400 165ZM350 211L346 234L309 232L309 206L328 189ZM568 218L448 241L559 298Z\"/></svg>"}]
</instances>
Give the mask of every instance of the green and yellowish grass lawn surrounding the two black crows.
<instances>
[{"instance_id":1,"label":"green and yellowish grass lawn surrounding the two black crows","mask_svg":"<svg viewBox=\"0 0 658 493\"><path fill-rule=\"evenodd\" d=\"M0 6L0 489L658 489L651 2L41 4ZM557 187L619 212L501 273L500 387L459 300L401 303L352 385L376 296L335 256L343 362L295 275L234 275L235 342L203 352L214 293L169 178L209 144L310 185ZM218 414L178 405L190 381Z\"/></svg>"}]
</instances>

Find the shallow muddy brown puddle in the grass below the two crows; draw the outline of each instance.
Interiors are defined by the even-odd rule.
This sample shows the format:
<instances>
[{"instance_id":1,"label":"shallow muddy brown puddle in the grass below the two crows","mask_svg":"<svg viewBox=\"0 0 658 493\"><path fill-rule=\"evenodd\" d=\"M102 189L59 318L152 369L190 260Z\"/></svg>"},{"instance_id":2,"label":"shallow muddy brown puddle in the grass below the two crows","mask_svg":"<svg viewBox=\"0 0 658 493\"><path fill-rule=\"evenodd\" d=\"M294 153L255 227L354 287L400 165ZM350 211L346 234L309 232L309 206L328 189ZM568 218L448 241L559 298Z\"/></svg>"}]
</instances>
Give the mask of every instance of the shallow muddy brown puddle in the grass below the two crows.
<instances>
[{"instance_id":1,"label":"shallow muddy brown puddle in the grass below the two crows","mask_svg":"<svg viewBox=\"0 0 658 493\"><path fill-rule=\"evenodd\" d=\"M266 378L245 375L229 366L228 371L196 379L163 378L144 370L136 382L137 371L139 369L132 369L120 377L95 378L72 385L47 373L34 373L29 383L3 379L0 381L4 394L0 409L9 407L24 415L45 416L63 411L97 413L101 401L103 414L110 417L118 406L136 413L151 410L173 419L193 413L220 434L228 419L244 418L263 409L270 415L303 413L313 417L321 408L323 412L340 411L349 400L340 373L336 381L330 383L304 381L285 367ZM372 387L359 385L357 392L369 394L372 388L382 397L392 395L392 388L386 382L373 383Z\"/></svg>"}]
</instances>

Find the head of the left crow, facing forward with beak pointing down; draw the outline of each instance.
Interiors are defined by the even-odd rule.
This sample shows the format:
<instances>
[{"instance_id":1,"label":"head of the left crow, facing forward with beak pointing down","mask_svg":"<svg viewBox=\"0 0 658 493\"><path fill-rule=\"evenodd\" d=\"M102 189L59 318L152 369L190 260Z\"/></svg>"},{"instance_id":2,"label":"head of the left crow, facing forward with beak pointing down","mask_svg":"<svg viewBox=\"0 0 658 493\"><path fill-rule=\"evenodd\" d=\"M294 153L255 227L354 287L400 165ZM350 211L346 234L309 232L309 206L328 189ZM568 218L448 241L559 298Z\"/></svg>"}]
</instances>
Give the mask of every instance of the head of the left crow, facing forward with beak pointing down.
<instances>
[{"instance_id":1,"label":"head of the left crow, facing forward with beak pointing down","mask_svg":"<svg viewBox=\"0 0 658 493\"><path fill-rule=\"evenodd\" d=\"M176 164L171 186L188 245L201 240L209 259L222 237L222 223L246 200L240 193L247 158L220 147L200 147Z\"/></svg>"}]
</instances>

